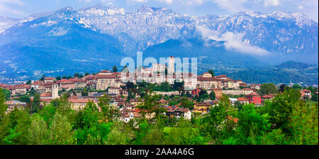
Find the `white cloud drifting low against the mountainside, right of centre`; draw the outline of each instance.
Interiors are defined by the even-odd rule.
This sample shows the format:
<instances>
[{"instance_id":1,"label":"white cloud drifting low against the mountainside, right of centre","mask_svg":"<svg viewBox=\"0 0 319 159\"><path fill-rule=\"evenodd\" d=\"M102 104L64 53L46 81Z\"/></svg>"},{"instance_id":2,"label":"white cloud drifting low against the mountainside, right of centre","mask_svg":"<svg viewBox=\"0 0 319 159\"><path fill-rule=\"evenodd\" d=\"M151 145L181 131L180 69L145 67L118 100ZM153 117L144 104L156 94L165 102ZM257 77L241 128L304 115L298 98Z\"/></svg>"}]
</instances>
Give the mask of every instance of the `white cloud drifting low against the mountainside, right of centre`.
<instances>
[{"instance_id":1,"label":"white cloud drifting low against the mountainside, right of centre","mask_svg":"<svg viewBox=\"0 0 319 159\"><path fill-rule=\"evenodd\" d=\"M251 55L269 55L267 50L259 48L257 46L250 45L249 41L242 41L245 34L243 33L219 33L218 31L212 31L204 26L198 26L197 31L201 33L203 40L218 40L225 41L224 45L227 50L236 50L240 53L248 53ZM209 45L209 44L208 44Z\"/></svg>"}]
</instances>

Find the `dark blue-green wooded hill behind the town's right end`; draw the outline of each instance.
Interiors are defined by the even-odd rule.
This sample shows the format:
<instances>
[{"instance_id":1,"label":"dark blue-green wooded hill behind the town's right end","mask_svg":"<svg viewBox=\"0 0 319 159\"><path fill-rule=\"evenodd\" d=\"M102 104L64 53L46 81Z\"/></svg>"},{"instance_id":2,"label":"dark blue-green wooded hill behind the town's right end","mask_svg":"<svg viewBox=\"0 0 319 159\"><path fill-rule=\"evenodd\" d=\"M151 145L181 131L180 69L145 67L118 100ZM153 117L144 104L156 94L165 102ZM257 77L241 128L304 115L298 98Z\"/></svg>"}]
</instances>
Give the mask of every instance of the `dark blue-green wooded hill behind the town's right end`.
<instances>
[{"instance_id":1,"label":"dark blue-green wooded hill behind the town's right end","mask_svg":"<svg viewBox=\"0 0 319 159\"><path fill-rule=\"evenodd\" d=\"M204 67L204 66L203 66ZM225 74L232 79L241 79L247 83L289 84L290 82L313 85L318 84L318 65L287 61L275 67L250 68L243 70L216 70L216 74Z\"/></svg>"}]
</instances>

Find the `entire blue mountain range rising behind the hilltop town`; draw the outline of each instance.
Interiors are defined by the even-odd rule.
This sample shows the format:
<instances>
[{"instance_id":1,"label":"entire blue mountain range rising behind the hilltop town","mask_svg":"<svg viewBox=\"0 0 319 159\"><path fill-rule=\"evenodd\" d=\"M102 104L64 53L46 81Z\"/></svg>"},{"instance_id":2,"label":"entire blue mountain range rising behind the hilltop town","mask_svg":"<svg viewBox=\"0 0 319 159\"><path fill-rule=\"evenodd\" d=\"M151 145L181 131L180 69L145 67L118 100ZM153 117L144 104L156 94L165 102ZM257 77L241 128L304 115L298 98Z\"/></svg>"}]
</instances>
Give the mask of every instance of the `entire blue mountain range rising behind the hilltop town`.
<instances>
[{"instance_id":1,"label":"entire blue mountain range rising behind the hilltop town","mask_svg":"<svg viewBox=\"0 0 319 159\"><path fill-rule=\"evenodd\" d=\"M287 60L318 65L318 23L284 11L186 16L167 8L125 12L101 5L0 17L0 80L96 72L137 51L198 57L201 71L265 69Z\"/></svg>"}]
</instances>

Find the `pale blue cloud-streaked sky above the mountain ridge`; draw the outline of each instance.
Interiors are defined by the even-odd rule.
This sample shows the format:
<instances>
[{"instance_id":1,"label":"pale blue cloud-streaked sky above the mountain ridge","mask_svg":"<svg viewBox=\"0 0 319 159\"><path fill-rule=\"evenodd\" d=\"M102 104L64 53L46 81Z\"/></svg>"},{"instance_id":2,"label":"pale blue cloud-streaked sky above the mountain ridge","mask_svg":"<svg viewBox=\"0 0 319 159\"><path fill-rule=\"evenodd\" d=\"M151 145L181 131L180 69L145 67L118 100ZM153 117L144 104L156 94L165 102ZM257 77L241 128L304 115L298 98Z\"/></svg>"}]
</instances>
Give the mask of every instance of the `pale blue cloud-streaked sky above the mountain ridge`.
<instances>
[{"instance_id":1,"label":"pale blue cloud-streaked sky above the mountain ridge","mask_svg":"<svg viewBox=\"0 0 319 159\"><path fill-rule=\"evenodd\" d=\"M55 11L65 6L80 9L101 3L136 11L140 6L163 7L189 16L208 13L230 15L239 11L302 11L318 22L318 0L0 0L0 16L24 18L33 13Z\"/></svg>"}]
</instances>

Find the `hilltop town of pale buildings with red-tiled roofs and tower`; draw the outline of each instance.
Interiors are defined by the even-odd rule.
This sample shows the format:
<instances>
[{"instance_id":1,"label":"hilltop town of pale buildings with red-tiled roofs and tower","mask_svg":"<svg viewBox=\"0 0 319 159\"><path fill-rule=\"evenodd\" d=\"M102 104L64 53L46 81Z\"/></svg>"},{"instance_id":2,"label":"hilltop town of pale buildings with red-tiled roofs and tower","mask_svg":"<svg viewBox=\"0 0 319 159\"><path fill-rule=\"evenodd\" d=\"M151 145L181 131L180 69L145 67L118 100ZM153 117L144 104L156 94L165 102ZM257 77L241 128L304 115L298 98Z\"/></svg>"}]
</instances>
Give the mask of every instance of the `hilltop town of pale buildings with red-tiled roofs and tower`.
<instances>
[{"instance_id":1,"label":"hilltop town of pale buildings with red-tiled roofs and tower","mask_svg":"<svg viewBox=\"0 0 319 159\"><path fill-rule=\"evenodd\" d=\"M159 72L165 72L165 75L159 76ZM99 108L99 98L106 94L111 99L109 104L120 111L125 123L141 117L137 106L142 104L143 97L150 92L160 96L159 104L167 110L167 116L183 116L185 119L191 119L194 114L209 113L211 107L218 106L223 97L233 106L262 106L278 92L274 84L264 84L262 88L262 84L247 84L226 75L215 76L212 70L202 75L189 73L189 78L185 78L183 73L175 73L174 68L172 70L167 66L153 65L151 68L142 67L141 73L138 76L137 73L128 72L122 74L125 77L121 77L121 72L117 72L114 67L113 72L103 70L93 75L76 73L74 77L62 78L43 76L35 82L0 84L0 87L10 92L10 100L6 102L9 106L7 111L12 111L14 106L26 108L29 102L23 102L19 98L28 96L33 101L34 94L40 94L40 106L50 104L53 99L67 94L68 102L76 111L83 110L88 102L94 102ZM181 77L179 82L178 76ZM311 99L313 94L318 96L318 89L311 92L302 88L299 92L302 99Z\"/></svg>"}]
</instances>

